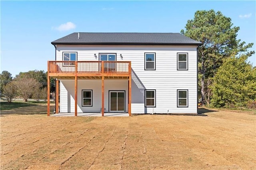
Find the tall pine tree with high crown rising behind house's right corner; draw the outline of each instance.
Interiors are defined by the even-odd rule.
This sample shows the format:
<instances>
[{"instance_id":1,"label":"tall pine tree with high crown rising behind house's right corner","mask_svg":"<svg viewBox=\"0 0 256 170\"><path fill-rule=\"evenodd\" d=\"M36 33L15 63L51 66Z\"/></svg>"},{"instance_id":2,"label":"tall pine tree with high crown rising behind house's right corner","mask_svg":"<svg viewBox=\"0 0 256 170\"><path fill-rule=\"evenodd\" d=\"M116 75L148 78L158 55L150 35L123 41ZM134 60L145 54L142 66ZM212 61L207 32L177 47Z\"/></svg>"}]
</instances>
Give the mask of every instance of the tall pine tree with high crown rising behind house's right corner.
<instances>
[{"instance_id":1,"label":"tall pine tree with high crown rising behind house's right corner","mask_svg":"<svg viewBox=\"0 0 256 170\"><path fill-rule=\"evenodd\" d=\"M245 45L245 42L236 40L240 28L233 26L231 19L219 11L196 11L194 19L188 20L185 28L186 31L181 30L181 34L203 43L198 47L198 86L202 103L209 103L210 79L224 59L238 54L251 56L254 51L248 51L248 48L253 43Z\"/></svg>"}]
</instances>

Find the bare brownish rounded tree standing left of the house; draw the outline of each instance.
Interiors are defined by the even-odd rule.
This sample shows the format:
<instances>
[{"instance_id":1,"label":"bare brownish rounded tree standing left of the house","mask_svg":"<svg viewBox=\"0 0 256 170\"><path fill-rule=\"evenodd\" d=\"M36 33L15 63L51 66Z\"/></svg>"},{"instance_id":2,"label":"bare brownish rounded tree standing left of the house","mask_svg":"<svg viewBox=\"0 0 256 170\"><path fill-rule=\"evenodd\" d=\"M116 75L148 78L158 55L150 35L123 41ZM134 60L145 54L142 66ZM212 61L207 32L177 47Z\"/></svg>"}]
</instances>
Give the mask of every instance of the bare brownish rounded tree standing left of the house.
<instances>
[{"instance_id":1,"label":"bare brownish rounded tree standing left of the house","mask_svg":"<svg viewBox=\"0 0 256 170\"><path fill-rule=\"evenodd\" d=\"M42 85L36 81L36 79L28 78L26 76L18 76L14 81L14 85L17 88L18 94L24 99L24 101L28 101L34 91L38 90Z\"/></svg>"}]
</instances>

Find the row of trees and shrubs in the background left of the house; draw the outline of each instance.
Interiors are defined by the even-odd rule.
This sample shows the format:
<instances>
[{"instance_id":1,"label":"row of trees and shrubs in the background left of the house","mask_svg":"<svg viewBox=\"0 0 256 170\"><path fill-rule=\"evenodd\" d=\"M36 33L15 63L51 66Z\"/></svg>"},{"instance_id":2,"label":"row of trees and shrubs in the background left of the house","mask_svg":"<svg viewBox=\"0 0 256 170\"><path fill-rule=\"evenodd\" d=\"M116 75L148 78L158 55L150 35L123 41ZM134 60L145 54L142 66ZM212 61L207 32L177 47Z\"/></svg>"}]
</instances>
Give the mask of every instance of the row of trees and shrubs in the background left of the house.
<instances>
[{"instance_id":1,"label":"row of trees and shrubs in the background left of the house","mask_svg":"<svg viewBox=\"0 0 256 170\"><path fill-rule=\"evenodd\" d=\"M55 92L55 80L50 79L50 90ZM0 74L0 90L8 102L16 96L20 96L24 101L28 99L47 99L47 72L40 70L20 72L16 77L8 71Z\"/></svg>"}]
</instances>

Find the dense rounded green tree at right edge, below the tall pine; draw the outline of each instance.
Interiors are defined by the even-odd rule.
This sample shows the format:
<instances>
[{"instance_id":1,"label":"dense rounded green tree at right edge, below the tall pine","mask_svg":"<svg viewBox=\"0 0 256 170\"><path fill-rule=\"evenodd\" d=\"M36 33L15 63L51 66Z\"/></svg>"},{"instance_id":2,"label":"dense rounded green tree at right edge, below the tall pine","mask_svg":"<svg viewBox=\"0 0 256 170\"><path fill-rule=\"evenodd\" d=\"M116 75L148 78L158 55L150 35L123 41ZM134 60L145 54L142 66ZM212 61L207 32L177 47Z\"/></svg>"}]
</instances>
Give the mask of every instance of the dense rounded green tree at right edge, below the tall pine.
<instances>
[{"instance_id":1,"label":"dense rounded green tree at right edge, below the tall pine","mask_svg":"<svg viewBox=\"0 0 256 170\"><path fill-rule=\"evenodd\" d=\"M256 99L256 69L248 57L231 57L220 66L212 84L214 107L245 107Z\"/></svg>"}]
</instances>

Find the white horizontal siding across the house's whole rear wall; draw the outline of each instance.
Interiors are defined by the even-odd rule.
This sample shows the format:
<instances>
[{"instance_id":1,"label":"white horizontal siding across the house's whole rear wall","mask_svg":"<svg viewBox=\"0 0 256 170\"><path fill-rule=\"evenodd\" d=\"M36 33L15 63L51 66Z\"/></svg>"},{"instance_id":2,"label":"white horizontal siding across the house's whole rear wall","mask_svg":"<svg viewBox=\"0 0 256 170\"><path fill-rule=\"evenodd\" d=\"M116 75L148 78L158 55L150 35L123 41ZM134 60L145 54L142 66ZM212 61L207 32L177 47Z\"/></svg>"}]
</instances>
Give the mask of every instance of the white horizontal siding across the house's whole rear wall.
<instances>
[{"instance_id":1,"label":"white horizontal siding across the house's whole rear wall","mask_svg":"<svg viewBox=\"0 0 256 170\"><path fill-rule=\"evenodd\" d=\"M117 61L132 61L132 113L152 113L152 108L144 107L144 90L155 89L156 90L156 107L154 113L196 113L197 112L197 59L196 59L196 47L197 46L125 46L125 45L57 45L56 48L56 60L62 60L62 52L78 52L78 61L98 61L99 53L116 53ZM156 70L144 70L144 53L154 52L156 53ZM94 57L94 53L97 58ZM177 53L188 53L188 70L177 70ZM123 59L120 58L122 54ZM86 88L92 89L100 88L101 81L88 81ZM93 83L94 82L94 83ZM111 82L111 81L110 81ZM108 81L105 81L105 96L108 96L108 89L113 90L125 89L128 96L128 83L123 86L117 83L108 85ZM79 81L80 83L80 81ZM78 88L80 85L78 83ZM111 84L111 83L110 83ZM74 81L72 87L74 86ZM68 88L71 86L67 85ZM61 88L63 89L63 88ZM70 90L72 91L71 88ZM188 90L188 107L177 107L177 90ZM79 96L78 89L78 99ZM74 90L73 90L74 91ZM94 90L96 91L96 89ZM95 93L93 91L93 93ZM101 88L98 89L101 94ZM70 92L71 93L71 92ZM95 95L97 95L97 93ZM68 105L67 99L70 97L70 104L72 103L72 95L68 95L63 90L61 96L61 111L67 111L63 105ZM63 101L62 101L63 100ZM127 101L127 100L126 100ZM66 102L66 103L65 103ZM97 101L101 105L100 101ZM78 105L80 103L78 102ZM128 105L128 104L127 104ZM126 107L127 107L126 105ZM108 98L105 98L105 107L108 111ZM93 111L101 108L100 106L93 107ZM88 109L86 107L86 109ZM90 109L89 109L90 110ZM72 111L72 108L71 108ZM85 109L81 109L85 111ZM98 110L97 110L98 111Z\"/></svg>"}]
</instances>

